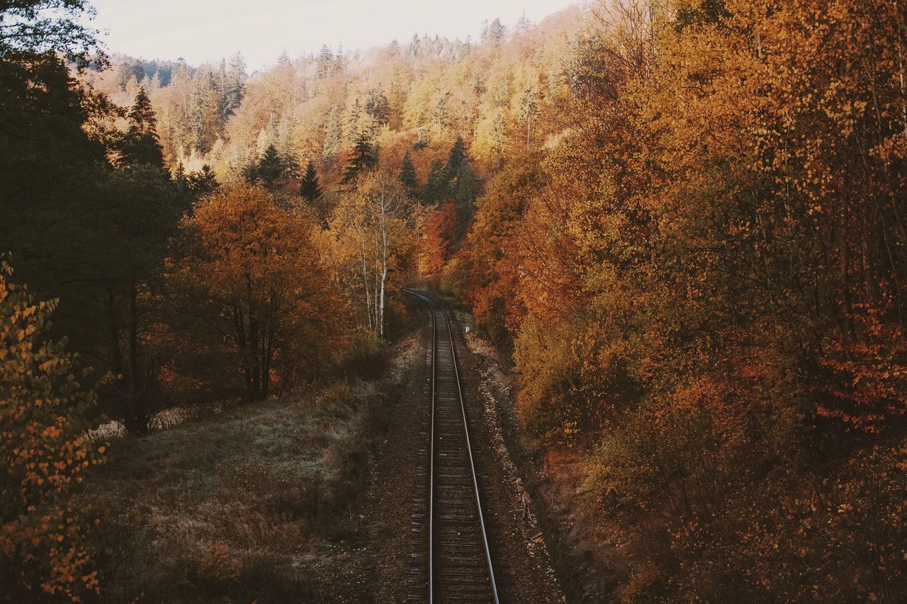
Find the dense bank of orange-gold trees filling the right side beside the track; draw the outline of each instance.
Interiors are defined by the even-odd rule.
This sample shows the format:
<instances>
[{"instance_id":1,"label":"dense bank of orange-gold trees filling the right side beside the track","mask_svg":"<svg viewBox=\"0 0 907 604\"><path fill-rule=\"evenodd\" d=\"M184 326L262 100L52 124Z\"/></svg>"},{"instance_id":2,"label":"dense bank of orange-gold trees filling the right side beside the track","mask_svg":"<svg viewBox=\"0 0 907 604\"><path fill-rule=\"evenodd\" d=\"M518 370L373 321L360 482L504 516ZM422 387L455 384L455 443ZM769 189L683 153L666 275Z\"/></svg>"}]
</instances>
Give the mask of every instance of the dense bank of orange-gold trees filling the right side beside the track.
<instances>
[{"instance_id":1,"label":"dense bank of orange-gold trees filling the right side beside the track","mask_svg":"<svg viewBox=\"0 0 907 604\"><path fill-rule=\"evenodd\" d=\"M902 598L904 7L601 4L540 174L454 260L521 423L592 445L628 599Z\"/></svg>"}]
</instances>

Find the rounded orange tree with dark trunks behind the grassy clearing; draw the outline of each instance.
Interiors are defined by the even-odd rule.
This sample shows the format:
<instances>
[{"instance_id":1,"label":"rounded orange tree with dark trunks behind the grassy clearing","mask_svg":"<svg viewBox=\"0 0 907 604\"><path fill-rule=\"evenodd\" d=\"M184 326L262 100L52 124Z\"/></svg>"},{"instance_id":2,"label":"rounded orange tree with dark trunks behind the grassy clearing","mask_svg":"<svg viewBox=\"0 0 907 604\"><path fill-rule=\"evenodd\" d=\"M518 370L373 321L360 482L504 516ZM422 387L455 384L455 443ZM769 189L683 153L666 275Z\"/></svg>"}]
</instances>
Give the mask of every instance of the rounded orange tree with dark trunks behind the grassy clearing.
<instances>
[{"instance_id":1,"label":"rounded orange tree with dark trunks behind the grassy clearing","mask_svg":"<svg viewBox=\"0 0 907 604\"><path fill-rule=\"evenodd\" d=\"M170 271L181 375L213 393L263 400L327 362L343 317L312 244L317 228L310 209L279 207L248 184L196 204Z\"/></svg>"}]
</instances>

